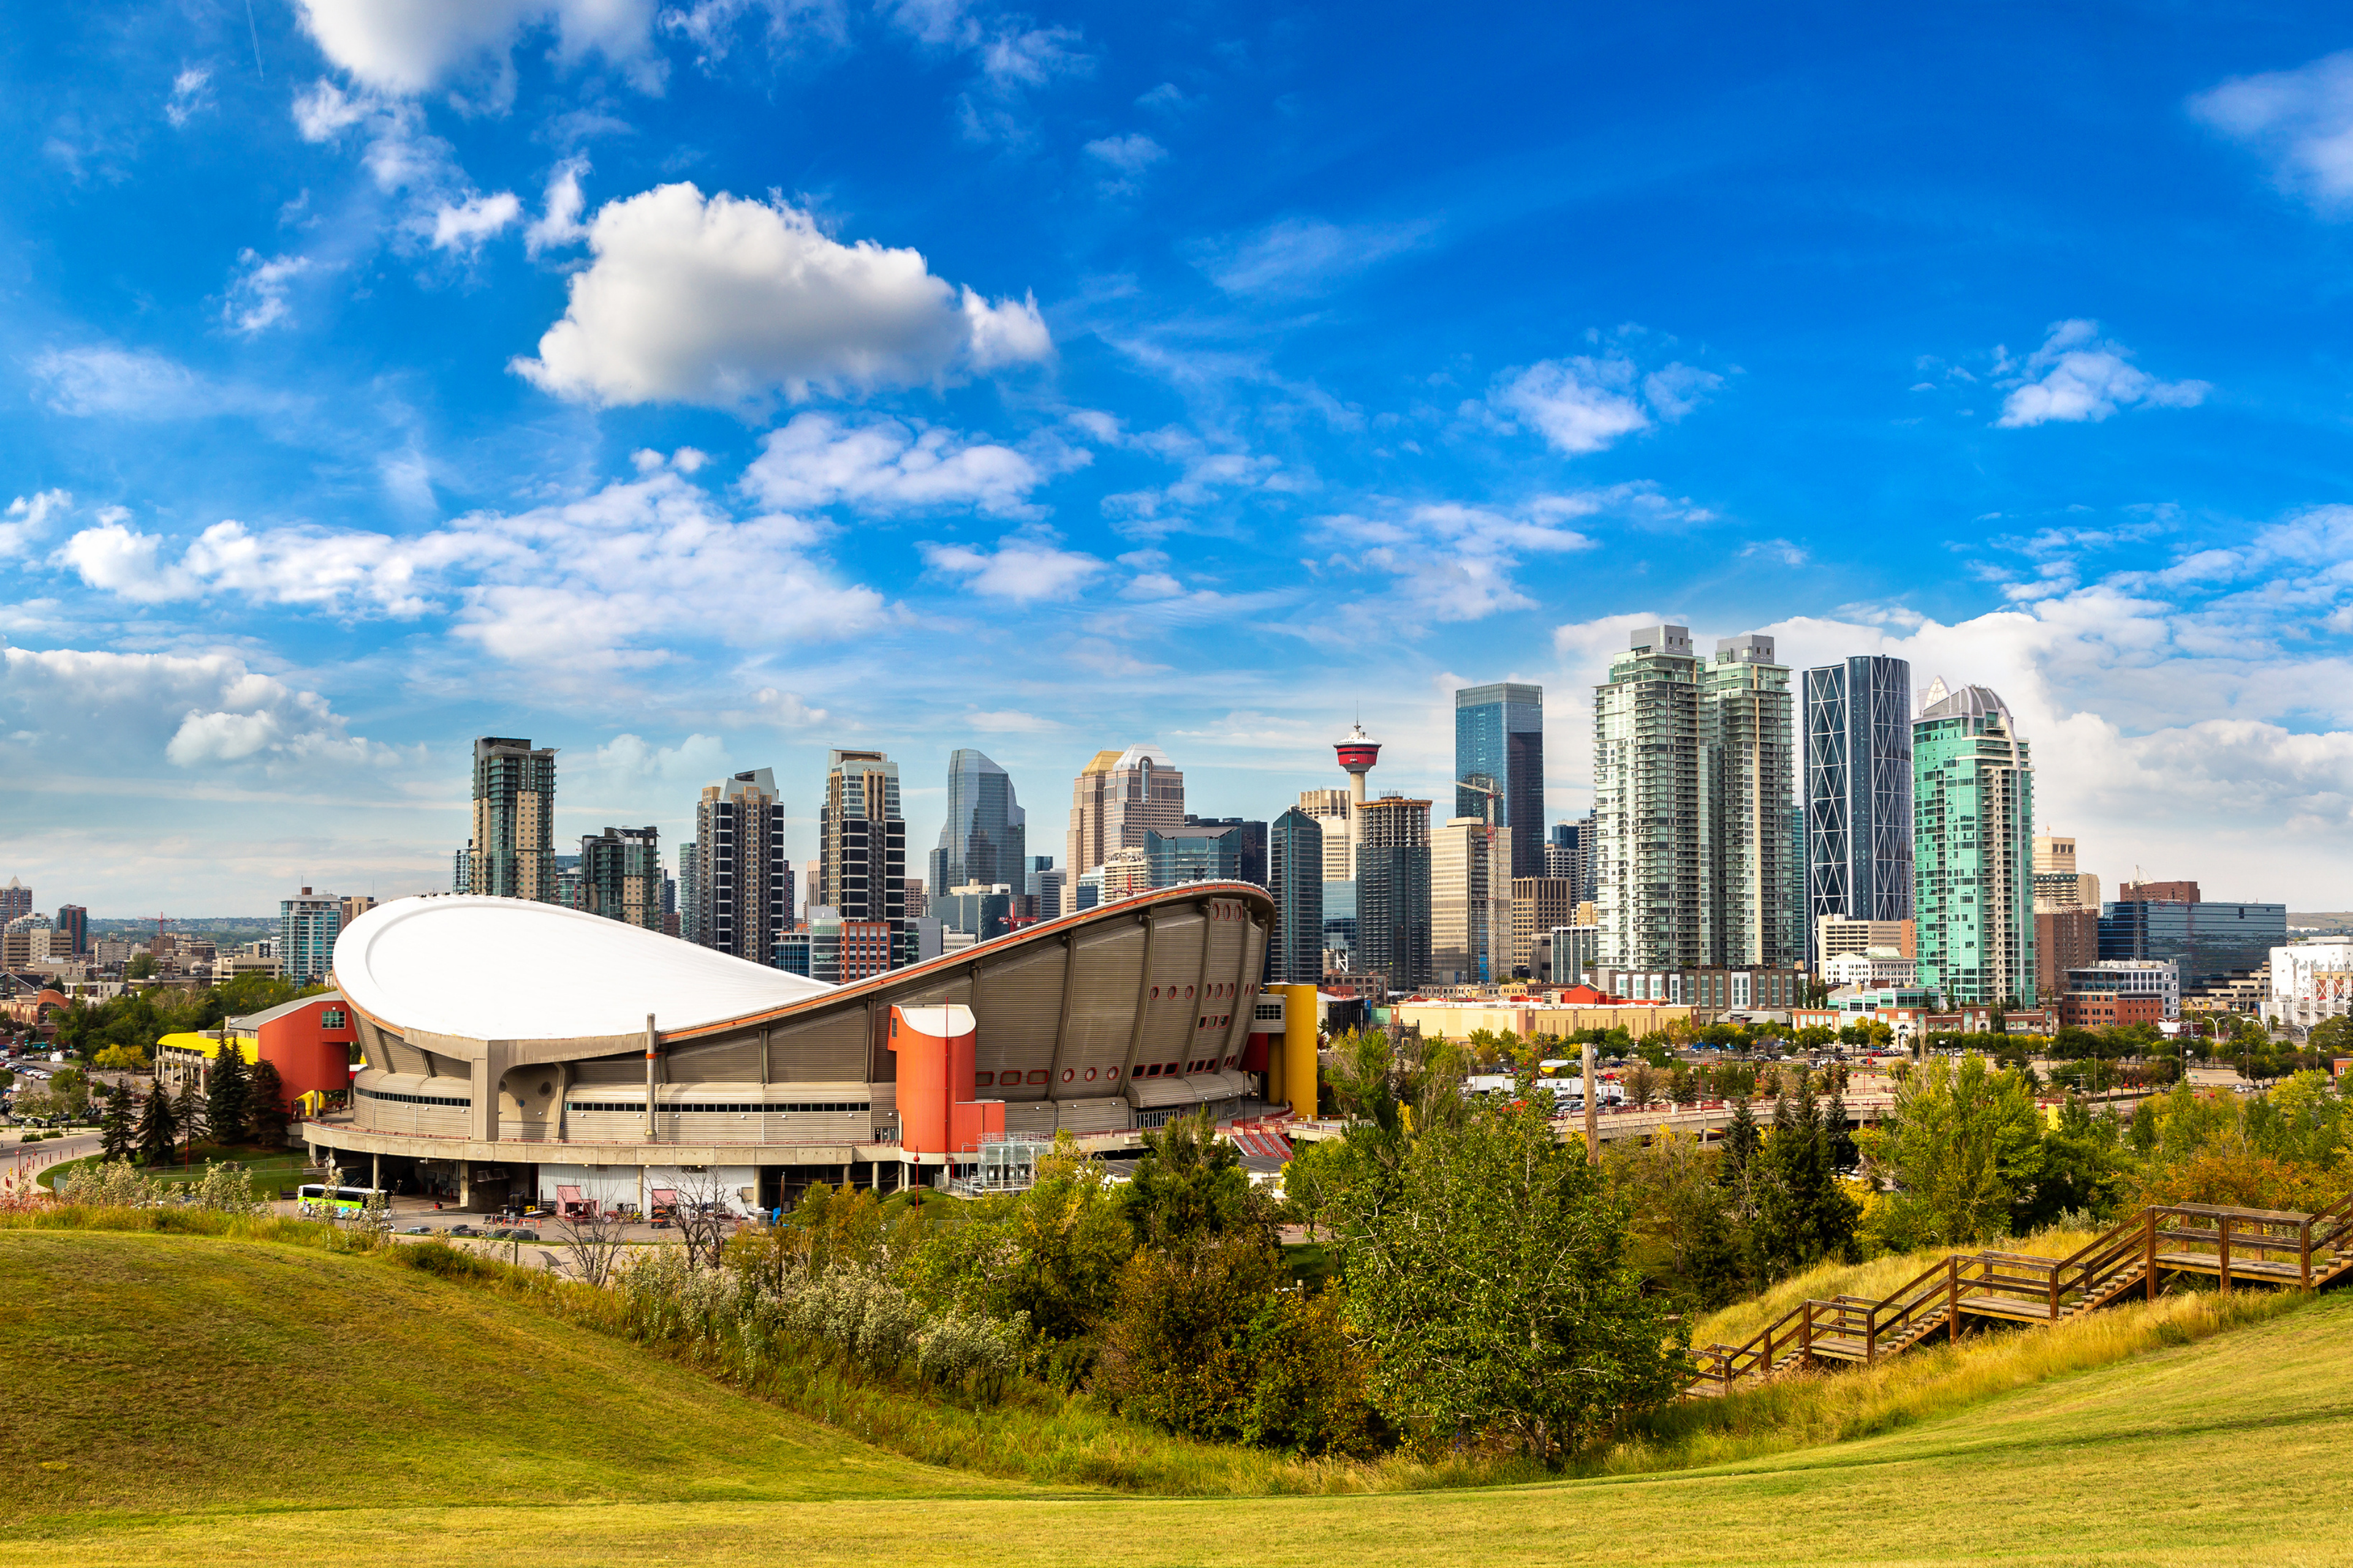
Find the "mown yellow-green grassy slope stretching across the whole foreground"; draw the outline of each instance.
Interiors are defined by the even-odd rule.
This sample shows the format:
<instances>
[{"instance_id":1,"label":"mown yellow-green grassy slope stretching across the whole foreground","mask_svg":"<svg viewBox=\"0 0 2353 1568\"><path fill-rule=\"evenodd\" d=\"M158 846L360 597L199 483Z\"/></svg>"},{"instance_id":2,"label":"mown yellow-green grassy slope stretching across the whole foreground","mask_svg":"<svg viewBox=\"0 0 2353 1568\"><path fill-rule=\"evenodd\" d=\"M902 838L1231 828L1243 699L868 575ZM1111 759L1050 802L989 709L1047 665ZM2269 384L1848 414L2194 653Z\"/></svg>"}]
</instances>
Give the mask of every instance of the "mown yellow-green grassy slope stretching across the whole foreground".
<instances>
[{"instance_id":1,"label":"mown yellow-green grassy slope stretching across the whole foreground","mask_svg":"<svg viewBox=\"0 0 2353 1568\"><path fill-rule=\"evenodd\" d=\"M0 1563L2353 1563L2348 1342L2329 1295L1671 1474L1047 1495L369 1260L0 1232Z\"/></svg>"}]
</instances>

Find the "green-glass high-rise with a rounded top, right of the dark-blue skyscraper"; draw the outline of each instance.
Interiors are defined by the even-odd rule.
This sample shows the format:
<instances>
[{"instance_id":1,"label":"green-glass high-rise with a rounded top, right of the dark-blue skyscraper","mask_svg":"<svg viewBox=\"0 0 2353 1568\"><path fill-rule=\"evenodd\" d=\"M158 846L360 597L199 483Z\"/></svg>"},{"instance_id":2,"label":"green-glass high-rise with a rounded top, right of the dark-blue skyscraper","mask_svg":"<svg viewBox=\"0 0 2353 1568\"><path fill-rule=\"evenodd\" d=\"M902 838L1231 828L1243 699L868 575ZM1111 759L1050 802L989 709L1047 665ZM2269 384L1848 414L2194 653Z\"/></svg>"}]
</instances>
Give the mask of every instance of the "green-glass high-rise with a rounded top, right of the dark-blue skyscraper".
<instances>
[{"instance_id":1,"label":"green-glass high-rise with a rounded top, right of the dark-blue skyscraper","mask_svg":"<svg viewBox=\"0 0 2353 1568\"><path fill-rule=\"evenodd\" d=\"M1986 686L1937 679L1913 719L1913 919L1944 1006L2035 999L2035 769Z\"/></svg>"}]
</instances>

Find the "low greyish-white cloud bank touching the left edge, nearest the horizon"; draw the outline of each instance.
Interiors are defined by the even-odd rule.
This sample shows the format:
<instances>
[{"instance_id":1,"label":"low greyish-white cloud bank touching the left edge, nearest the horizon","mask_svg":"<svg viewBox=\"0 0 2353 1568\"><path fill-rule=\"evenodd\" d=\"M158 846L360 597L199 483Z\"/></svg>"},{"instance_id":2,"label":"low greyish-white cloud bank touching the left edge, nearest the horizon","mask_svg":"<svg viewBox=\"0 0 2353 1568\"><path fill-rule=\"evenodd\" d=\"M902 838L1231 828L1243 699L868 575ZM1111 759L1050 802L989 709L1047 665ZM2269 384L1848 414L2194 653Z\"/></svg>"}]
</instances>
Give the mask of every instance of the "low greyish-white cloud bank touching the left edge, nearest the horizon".
<instances>
[{"instance_id":1,"label":"low greyish-white cloud bank touching the left edge, nearest the horizon","mask_svg":"<svg viewBox=\"0 0 2353 1568\"><path fill-rule=\"evenodd\" d=\"M315 691L261 675L235 654L0 649L0 731L12 750L54 752L61 731L104 733L115 769L151 759L318 766L367 762L372 748Z\"/></svg>"}]
</instances>

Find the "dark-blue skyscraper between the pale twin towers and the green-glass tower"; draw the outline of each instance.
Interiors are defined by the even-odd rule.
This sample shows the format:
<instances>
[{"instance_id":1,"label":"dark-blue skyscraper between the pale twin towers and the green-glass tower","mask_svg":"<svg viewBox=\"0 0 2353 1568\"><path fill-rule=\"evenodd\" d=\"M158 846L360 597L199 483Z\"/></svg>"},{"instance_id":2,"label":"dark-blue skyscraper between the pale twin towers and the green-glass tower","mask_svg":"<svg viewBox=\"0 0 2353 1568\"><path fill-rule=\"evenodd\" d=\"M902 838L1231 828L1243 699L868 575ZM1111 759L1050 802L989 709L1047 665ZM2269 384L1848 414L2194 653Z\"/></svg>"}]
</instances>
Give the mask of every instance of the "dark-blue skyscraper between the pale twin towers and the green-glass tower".
<instances>
[{"instance_id":1,"label":"dark-blue skyscraper between the pale twin towers and the green-glass tower","mask_svg":"<svg viewBox=\"0 0 2353 1568\"><path fill-rule=\"evenodd\" d=\"M1913 917L1911 663L1866 654L1805 672L1805 931L1824 914Z\"/></svg>"}]
</instances>

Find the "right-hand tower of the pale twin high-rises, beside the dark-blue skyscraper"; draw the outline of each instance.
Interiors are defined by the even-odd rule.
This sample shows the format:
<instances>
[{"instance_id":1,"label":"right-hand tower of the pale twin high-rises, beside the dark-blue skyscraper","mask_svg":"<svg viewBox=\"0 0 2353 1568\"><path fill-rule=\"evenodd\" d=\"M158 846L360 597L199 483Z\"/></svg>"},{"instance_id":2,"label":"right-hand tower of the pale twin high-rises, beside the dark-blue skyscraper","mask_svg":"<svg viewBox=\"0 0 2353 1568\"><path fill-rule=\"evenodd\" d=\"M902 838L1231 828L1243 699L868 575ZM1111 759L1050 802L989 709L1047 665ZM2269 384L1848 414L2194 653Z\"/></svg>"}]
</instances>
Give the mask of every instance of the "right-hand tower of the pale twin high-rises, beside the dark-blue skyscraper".
<instances>
[{"instance_id":1,"label":"right-hand tower of the pale twin high-rises, beside the dark-blue skyscraper","mask_svg":"<svg viewBox=\"0 0 2353 1568\"><path fill-rule=\"evenodd\" d=\"M1706 872L1701 931L1708 964L1786 969L1805 957L1802 877L1793 813L1795 736L1788 665L1762 635L1725 637L1699 675L1706 745Z\"/></svg>"}]
</instances>

